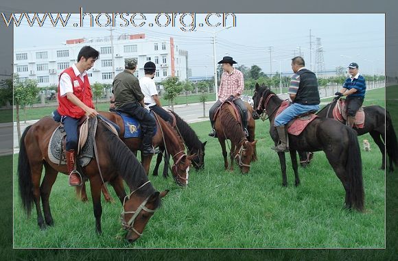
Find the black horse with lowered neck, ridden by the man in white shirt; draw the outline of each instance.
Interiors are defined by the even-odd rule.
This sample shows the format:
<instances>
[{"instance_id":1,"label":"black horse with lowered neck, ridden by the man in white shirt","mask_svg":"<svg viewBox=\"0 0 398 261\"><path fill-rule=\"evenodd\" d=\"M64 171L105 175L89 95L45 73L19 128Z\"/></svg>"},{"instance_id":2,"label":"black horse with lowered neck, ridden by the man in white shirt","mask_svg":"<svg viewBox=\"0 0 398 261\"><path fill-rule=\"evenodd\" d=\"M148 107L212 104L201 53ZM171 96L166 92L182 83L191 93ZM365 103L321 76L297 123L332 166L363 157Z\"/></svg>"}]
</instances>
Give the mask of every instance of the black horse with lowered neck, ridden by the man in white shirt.
<instances>
[{"instance_id":1,"label":"black horse with lowered neck, ridden by the man in white shirt","mask_svg":"<svg viewBox=\"0 0 398 261\"><path fill-rule=\"evenodd\" d=\"M194 168L199 171L204 168L204 146L206 145L207 141L201 142L194 132L194 129L192 129L188 123L186 123L183 119L176 114L176 112L172 112L174 116L176 117L176 127L178 129L178 134L183 138L185 146L188 149L188 154L189 155L195 155L195 158L191 160L192 164L194 165ZM159 147L161 151L164 153L164 148ZM167 177L168 173L168 167L169 167L169 156L165 154L165 165L163 167L163 177ZM158 171L159 171L159 165L162 162L162 153L158 154L158 157L156 158L156 165L154 168L154 171L152 172L152 175L157 176Z\"/></svg>"}]
</instances>

